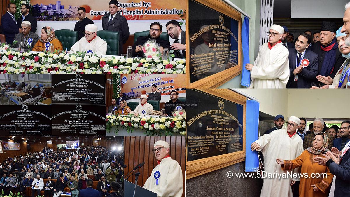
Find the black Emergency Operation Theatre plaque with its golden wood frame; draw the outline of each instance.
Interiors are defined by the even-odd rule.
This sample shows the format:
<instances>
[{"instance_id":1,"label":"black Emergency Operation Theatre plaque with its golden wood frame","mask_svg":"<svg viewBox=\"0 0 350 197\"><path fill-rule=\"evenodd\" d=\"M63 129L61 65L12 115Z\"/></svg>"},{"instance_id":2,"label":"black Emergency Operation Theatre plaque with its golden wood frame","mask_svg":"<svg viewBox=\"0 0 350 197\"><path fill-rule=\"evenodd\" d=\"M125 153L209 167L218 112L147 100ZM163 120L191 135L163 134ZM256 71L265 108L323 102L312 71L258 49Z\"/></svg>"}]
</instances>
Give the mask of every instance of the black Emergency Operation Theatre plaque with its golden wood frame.
<instances>
[{"instance_id":1,"label":"black Emergency Operation Theatre plaque with its golden wood frame","mask_svg":"<svg viewBox=\"0 0 350 197\"><path fill-rule=\"evenodd\" d=\"M189 0L188 6L187 87L218 87L241 72L241 16L221 1Z\"/></svg>"}]
</instances>

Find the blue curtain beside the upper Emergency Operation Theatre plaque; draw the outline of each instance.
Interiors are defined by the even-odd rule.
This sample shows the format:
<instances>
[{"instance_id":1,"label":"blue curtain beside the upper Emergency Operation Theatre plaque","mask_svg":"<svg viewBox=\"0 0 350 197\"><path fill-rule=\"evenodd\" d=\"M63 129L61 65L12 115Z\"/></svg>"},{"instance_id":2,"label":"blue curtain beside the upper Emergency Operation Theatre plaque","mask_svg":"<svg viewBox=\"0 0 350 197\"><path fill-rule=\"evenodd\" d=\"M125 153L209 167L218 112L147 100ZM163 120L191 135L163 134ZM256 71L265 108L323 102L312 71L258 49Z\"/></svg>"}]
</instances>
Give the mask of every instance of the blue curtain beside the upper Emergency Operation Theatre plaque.
<instances>
[{"instance_id":1,"label":"blue curtain beside the upper Emergency Operation Theatre plaque","mask_svg":"<svg viewBox=\"0 0 350 197\"><path fill-rule=\"evenodd\" d=\"M242 67L242 78L241 86L250 86L250 71L245 69L246 63L250 63L249 60L249 18L244 17L242 25L242 50L243 50L243 67Z\"/></svg>"}]
</instances>

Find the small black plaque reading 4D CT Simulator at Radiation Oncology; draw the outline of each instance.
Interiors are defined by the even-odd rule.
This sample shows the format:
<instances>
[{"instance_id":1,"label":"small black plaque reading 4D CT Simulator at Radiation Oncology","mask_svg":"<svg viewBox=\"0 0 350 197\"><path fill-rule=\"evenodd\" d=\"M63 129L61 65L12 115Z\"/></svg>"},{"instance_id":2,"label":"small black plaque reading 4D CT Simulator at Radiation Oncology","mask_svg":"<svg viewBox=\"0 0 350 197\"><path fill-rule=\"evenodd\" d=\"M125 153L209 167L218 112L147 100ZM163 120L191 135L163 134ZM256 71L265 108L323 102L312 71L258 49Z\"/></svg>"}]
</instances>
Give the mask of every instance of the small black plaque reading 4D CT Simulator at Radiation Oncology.
<instances>
[{"instance_id":1,"label":"small black plaque reading 4D CT Simulator at Radiation Oncology","mask_svg":"<svg viewBox=\"0 0 350 197\"><path fill-rule=\"evenodd\" d=\"M52 103L105 104L104 74L52 75Z\"/></svg>"}]
</instances>

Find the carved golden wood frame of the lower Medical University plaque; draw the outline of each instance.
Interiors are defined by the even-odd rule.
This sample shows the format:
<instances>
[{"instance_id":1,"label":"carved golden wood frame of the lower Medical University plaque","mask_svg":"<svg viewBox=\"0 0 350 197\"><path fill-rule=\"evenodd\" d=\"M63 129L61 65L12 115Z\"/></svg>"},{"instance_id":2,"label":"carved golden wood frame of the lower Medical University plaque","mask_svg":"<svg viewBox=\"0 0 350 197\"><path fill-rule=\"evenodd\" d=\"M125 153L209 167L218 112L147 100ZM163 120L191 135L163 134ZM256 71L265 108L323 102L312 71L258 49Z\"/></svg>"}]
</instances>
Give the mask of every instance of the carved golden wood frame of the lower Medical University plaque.
<instances>
[{"instance_id":1,"label":"carved golden wood frame of the lower Medical University plaque","mask_svg":"<svg viewBox=\"0 0 350 197\"><path fill-rule=\"evenodd\" d=\"M194 161L188 161L186 148L186 179L193 178L220 168L233 165L245 160L245 121L246 121L246 106L247 97L238 94L230 89L198 89L204 93L217 96L219 98L243 105L243 150L232 152L224 155L217 155ZM187 134L186 134L187 147Z\"/></svg>"}]
</instances>

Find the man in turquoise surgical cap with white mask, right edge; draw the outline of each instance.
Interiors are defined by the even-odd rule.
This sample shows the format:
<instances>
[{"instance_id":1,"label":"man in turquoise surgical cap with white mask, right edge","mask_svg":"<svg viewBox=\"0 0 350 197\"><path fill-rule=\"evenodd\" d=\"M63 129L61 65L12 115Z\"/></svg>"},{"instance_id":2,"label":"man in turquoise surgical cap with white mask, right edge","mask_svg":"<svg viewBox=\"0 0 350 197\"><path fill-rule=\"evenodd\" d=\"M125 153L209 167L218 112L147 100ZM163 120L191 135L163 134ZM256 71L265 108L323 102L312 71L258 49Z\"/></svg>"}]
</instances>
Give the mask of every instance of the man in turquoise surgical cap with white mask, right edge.
<instances>
[{"instance_id":1,"label":"man in turquoise surgical cap with white mask, right edge","mask_svg":"<svg viewBox=\"0 0 350 197\"><path fill-rule=\"evenodd\" d=\"M342 53L342 56L346 58L346 60L344 61L343 65L339 68L338 72L335 74L334 79L332 79L330 76L316 76L318 81L325 84L324 86L321 86L321 89L344 88L346 87L346 82L348 82L346 76L348 76L350 72L350 46L345 44L346 34L341 33L342 28L343 26L337 30L336 38L339 51ZM313 86L311 88L317 89L318 87Z\"/></svg>"}]
</instances>

